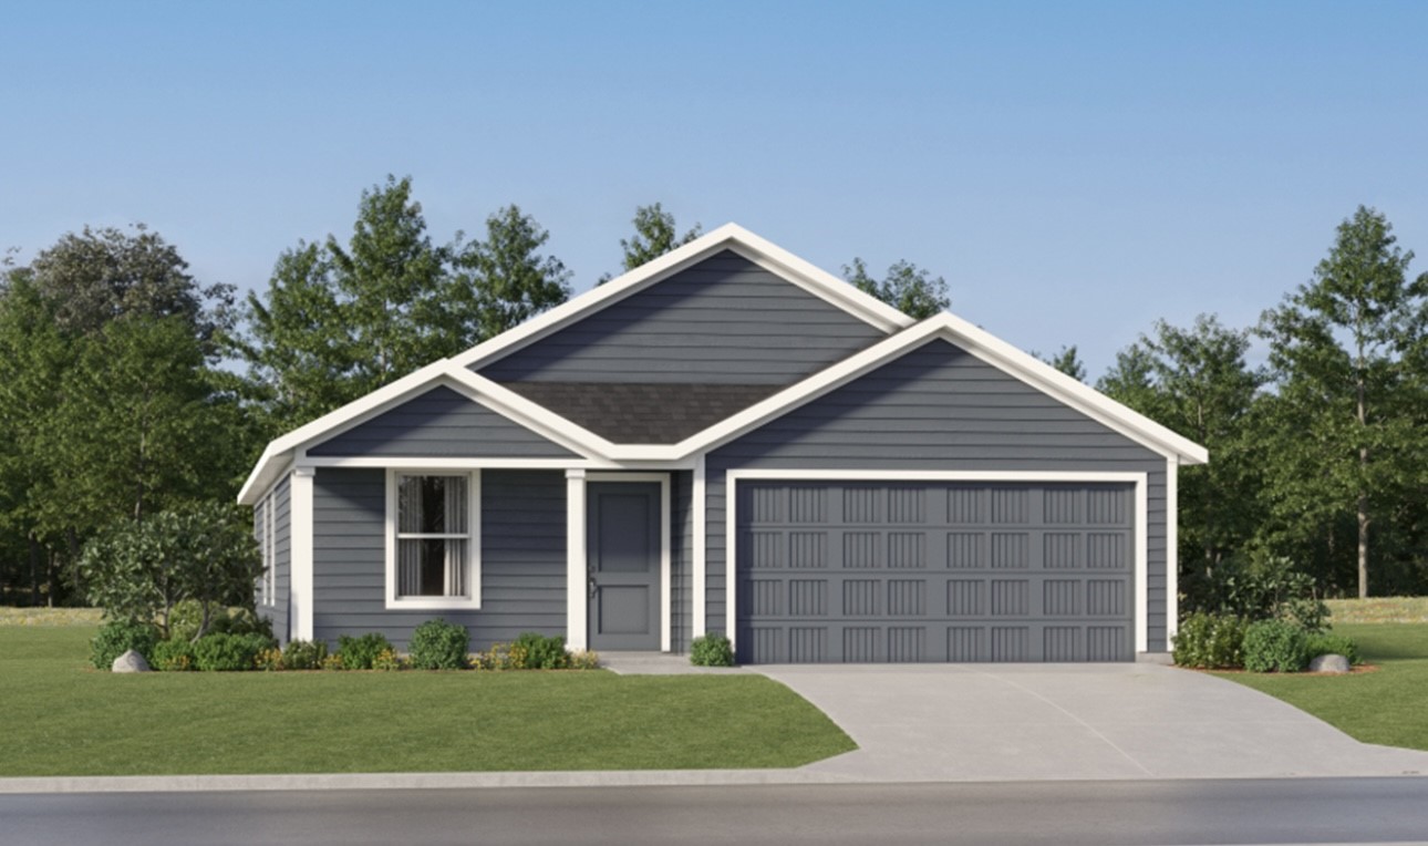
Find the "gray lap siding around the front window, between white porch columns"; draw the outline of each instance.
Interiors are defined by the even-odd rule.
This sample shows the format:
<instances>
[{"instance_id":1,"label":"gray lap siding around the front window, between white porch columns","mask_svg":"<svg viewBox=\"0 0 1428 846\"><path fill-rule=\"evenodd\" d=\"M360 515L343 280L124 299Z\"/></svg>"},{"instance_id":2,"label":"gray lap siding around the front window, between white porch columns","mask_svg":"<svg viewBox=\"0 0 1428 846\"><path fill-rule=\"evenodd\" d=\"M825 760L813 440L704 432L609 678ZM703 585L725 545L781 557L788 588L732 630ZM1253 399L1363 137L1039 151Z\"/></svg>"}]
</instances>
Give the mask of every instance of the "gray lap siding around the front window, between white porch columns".
<instances>
[{"instance_id":1,"label":"gray lap siding around the front window, between white porch columns","mask_svg":"<svg viewBox=\"0 0 1428 846\"><path fill-rule=\"evenodd\" d=\"M565 479L550 470L481 473L481 609L388 610L386 472L321 467L313 484L313 636L380 632L404 650L411 630L441 617L471 632L471 649L521 632L565 633Z\"/></svg>"}]
</instances>

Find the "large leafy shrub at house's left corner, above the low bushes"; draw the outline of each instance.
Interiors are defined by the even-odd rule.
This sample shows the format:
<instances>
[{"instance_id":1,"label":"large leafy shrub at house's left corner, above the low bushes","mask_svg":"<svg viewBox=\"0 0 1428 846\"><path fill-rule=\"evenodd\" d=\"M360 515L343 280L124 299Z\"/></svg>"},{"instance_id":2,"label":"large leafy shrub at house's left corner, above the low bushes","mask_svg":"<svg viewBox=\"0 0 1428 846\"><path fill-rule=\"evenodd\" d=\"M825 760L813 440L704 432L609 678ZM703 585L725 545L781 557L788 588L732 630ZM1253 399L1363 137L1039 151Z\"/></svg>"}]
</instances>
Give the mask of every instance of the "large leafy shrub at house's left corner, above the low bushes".
<instances>
[{"instance_id":1,"label":"large leafy shrub at house's left corner, above the low bushes","mask_svg":"<svg viewBox=\"0 0 1428 846\"><path fill-rule=\"evenodd\" d=\"M204 503L109 526L84 546L80 569L91 604L113 619L153 622L166 637L174 606L197 602L197 640L214 609L253 604L263 559L244 509Z\"/></svg>"}]
</instances>

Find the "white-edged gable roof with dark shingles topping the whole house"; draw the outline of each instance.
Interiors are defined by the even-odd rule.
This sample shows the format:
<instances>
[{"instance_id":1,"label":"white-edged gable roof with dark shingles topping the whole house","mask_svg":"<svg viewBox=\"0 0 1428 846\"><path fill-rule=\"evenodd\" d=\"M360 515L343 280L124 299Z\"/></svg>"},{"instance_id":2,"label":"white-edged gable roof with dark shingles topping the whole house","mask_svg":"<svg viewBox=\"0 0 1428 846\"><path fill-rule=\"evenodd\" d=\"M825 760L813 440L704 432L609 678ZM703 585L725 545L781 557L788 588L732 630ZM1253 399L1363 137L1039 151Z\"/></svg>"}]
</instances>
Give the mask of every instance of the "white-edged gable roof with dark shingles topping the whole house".
<instances>
[{"instance_id":1,"label":"white-edged gable roof with dark shingles topping the whole house","mask_svg":"<svg viewBox=\"0 0 1428 846\"><path fill-rule=\"evenodd\" d=\"M618 302L624 296L655 284L658 280L725 249L738 252L891 334L758 402L754 402L757 396L753 393L704 397L710 403L721 403L718 409L723 413L734 412L735 407L747 402L753 402L753 404L708 426L704 424L708 420L708 407L704 407L693 417L685 414L683 424L671 422L668 426L657 427L658 430L648 430L647 440L643 443L624 442L627 439L623 436L617 440L624 443L617 443L611 437L597 433L595 429L611 434L615 432L601 426L598 419L601 409L608 407L608 403L591 399L584 387L564 386L564 393L561 393L563 389L557 384L534 389L536 393L533 393L517 384L516 387L520 390L513 390L513 386L503 386L471 370L471 366L490 362L507 350L557 332L585 314L597 312L604 304ZM273 440L238 493L238 502L254 503L261 492L278 479L297 452L306 449L307 444L333 437L438 384L451 387L473 402L593 462L681 462L717 449L932 339L954 343L1008 376L1167 459L1181 464L1202 464L1210 459L1205 447L1071 379L961 317L944 312L921 323L914 322L907 314L785 253L764 239L738 226L725 224L617 280L477 344L460 356L427 364ZM608 390L608 386L601 386L601 389ZM541 390L547 393L541 394ZM630 390L635 389L630 387ZM575 396L580 392L585 393ZM523 393L530 396L521 396ZM691 407L698 406L700 403L694 403ZM557 410L563 410L564 414L557 413ZM698 430L691 432L695 424L700 426ZM650 427L645 426L645 429Z\"/></svg>"}]
</instances>

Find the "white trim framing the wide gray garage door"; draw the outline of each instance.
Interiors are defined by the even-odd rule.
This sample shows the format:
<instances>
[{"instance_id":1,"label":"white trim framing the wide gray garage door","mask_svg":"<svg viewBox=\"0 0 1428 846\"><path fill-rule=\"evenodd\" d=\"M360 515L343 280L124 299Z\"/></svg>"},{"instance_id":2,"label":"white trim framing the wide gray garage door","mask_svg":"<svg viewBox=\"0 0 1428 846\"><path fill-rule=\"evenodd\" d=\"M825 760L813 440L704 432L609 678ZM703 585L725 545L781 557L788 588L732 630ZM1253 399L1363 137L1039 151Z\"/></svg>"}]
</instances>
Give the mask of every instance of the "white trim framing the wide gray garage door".
<instances>
[{"instance_id":1,"label":"white trim framing the wide gray garage door","mask_svg":"<svg viewBox=\"0 0 1428 846\"><path fill-rule=\"evenodd\" d=\"M1147 584L1147 480L1148 473L1121 473L1101 470L728 470L725 474L724 507L724 632L730 643L738 649L738 483L740 482L1032 482L1032 483L1121 483L1132 484L1135 490L1134 526L1134 579L1135 579L1135 652L1148 649L1147 610L1150 587ZM1174 543L1174 539L1168 539ZM1171 584L1171 583L1168 583ZM1167 597L1167 604L1172 603ZM1174 612L1171 612L1174 613Z\"/></svg>"}]
</instances>

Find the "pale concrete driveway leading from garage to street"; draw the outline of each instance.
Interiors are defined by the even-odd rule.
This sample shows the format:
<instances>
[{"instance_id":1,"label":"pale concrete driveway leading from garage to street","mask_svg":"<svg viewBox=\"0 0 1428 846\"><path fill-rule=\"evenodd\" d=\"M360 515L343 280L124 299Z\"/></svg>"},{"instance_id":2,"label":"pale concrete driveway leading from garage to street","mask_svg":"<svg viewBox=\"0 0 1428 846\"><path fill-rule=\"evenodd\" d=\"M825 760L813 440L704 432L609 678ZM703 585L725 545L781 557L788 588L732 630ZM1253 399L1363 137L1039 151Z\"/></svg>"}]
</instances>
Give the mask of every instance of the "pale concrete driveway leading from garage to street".
<instances>
[{"instance_id":1,"label":"pale concrete driveway leading from garage to street","mask_svg":"<svg viewBox=\"0 0 1428 846\"><path fill-rule=\"evenodd\" d=\"M1157 665L751 667L860 749L803 767L860 782L1428 775L1234 682Z\"/></svg>"}]
</instances>

